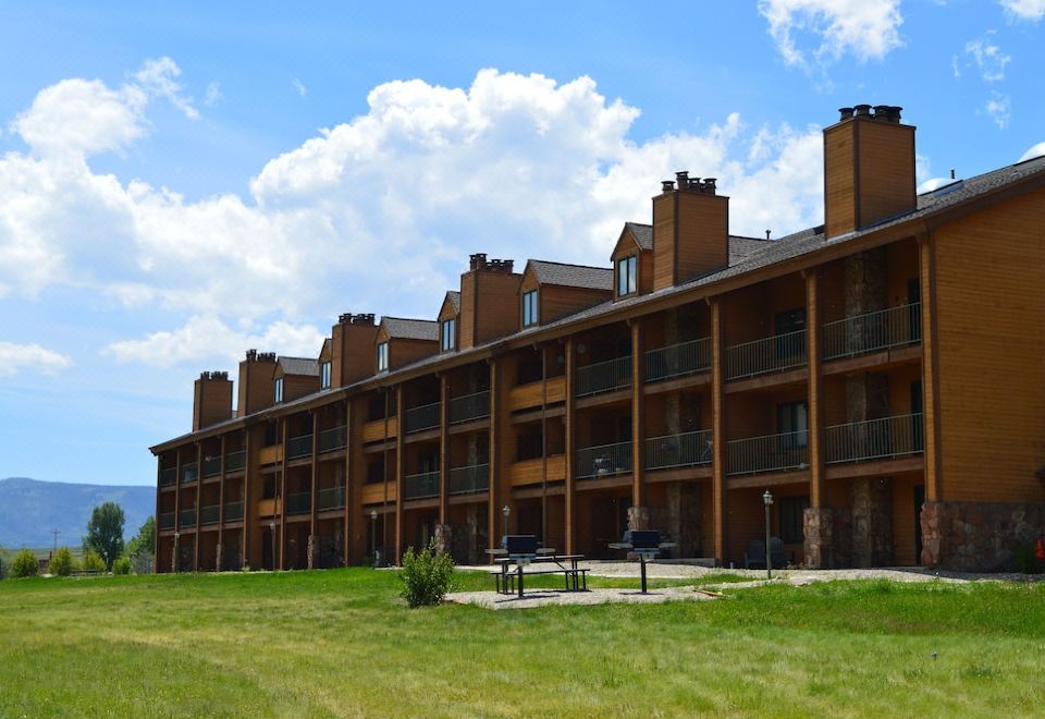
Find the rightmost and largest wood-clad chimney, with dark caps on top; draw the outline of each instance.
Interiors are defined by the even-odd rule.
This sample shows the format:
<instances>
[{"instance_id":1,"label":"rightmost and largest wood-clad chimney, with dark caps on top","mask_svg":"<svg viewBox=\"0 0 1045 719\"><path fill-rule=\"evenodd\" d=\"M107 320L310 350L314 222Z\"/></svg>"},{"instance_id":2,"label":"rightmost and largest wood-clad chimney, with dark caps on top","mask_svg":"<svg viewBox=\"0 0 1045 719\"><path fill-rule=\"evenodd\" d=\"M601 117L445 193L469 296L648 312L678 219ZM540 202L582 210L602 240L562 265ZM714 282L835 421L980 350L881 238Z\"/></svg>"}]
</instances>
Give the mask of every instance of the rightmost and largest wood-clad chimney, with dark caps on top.
<instances>
[{"instance_id":1,"label":"rightmost and largest wood-clad chimney, with dark caps on top","mask_svg":"<svg viewBox=\"0 0 1045 719\"><path fill-rule=\"evenodd\" d=\"M915 207L914 127L903 108L840 108L824 130L824 232L833 237Z\"/></svg>"}]
</instances>

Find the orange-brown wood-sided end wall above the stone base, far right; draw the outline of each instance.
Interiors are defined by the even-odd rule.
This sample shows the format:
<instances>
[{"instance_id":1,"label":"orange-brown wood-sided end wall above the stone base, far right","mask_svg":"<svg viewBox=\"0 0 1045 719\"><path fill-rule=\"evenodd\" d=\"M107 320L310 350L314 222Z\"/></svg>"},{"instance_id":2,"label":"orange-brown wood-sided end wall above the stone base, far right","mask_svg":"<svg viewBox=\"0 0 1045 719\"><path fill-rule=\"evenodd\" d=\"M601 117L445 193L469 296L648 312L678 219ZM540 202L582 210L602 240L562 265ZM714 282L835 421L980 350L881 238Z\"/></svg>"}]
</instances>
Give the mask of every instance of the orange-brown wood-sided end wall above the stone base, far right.
<instances>
[{"instance_id":1,"label":"orange-brown wood-sided end wall above the stone base, far right","mask_svg":"<svg viewBox=\"0 0 1045 719\"><path fill-rule=\"evenodd\" d=\"M942 498L1045 501L1045 191L935 232Z\"/></svg>"}]
</instances>

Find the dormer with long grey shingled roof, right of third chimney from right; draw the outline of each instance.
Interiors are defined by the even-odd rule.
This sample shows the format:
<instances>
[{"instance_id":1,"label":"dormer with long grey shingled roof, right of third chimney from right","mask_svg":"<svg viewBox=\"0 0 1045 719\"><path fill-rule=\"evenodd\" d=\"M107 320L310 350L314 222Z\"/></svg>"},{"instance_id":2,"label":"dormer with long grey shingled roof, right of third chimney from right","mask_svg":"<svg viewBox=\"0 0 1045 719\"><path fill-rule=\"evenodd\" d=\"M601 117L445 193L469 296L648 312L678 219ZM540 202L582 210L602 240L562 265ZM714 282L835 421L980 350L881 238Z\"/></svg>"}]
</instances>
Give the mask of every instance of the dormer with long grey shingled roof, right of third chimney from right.
<instances>
[{"instance_id":1,"label":"dormer with long grey shingled roof, right of third chimney from right","mask_svg":"<svg viewBox=\"0 0 1045 719\"><path fill-rule=\"evenodd\" d=\"M607 302L613 297L613 270L531 259L519 287L522 329Z\"/></svg>"}]
</instances>

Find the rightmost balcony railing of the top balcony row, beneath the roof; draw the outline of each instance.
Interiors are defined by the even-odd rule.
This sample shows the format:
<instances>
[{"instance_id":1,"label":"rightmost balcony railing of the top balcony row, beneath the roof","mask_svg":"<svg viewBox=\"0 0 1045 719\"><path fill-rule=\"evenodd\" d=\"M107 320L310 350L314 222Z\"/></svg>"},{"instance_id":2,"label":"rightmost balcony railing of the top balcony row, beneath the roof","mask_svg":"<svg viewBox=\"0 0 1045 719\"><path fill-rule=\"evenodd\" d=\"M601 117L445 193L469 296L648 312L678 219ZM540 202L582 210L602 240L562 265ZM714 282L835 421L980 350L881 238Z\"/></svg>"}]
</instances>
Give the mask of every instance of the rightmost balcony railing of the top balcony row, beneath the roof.
<instances>
[{"instance_id":1,"label":"rightmost balcony railing of the top balcony row, beneath the roof","mask_svg":"<svg viewBox=\"0 0 1045 719\"><path fill-rule=\"evenodd\" d=\"M921 310L921 303L915 302L827 322L821 337L824 360L852 357L920 342Z\"/></svg>"}]
</instances>

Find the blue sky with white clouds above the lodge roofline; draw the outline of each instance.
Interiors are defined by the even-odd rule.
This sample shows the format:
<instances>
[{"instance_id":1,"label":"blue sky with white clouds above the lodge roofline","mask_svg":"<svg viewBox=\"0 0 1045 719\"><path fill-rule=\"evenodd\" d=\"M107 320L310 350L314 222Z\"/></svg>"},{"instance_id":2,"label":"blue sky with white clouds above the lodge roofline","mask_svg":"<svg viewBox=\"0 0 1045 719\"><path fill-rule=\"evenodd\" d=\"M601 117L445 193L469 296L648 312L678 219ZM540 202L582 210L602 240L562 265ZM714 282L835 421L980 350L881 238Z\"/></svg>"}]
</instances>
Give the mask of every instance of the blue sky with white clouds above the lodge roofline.
<instances>
[{"instance_id":1,"label":"blue sky with white clouds above the lodge roofline","mask_svg":"<svg viewBox=\"0 0 1045 719\"><path fill-rule=\"evenodd\" d=\"M820 223L838 107L903 106L920 180L1045 141L1045 0L346 4L4 7L0 477L151 484L199 371L433 317L469 253L607 264L675 170Z\"/></svg>"}]
</instances>

